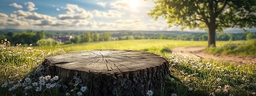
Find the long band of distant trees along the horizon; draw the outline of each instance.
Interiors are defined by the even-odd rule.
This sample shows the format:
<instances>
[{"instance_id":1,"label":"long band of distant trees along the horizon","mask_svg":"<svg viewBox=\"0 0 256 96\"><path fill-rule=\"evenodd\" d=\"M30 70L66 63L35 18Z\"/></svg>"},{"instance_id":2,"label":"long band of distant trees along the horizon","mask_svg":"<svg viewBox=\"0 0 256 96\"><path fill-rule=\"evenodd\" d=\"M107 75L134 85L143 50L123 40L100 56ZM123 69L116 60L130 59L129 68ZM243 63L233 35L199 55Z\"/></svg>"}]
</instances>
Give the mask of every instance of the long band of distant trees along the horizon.
<instances>
[{"instance_id":1,"label":"long band of distant trees along the horizon","mask_svg":"<svg viewBox=\"0 0 256 96\"><path fill-rule=\"evenodd\" d=\"M54 46L61 44L53 40L56 36L73 36L70 41L64 44L83 43L83 42L100 42L115 40L134 40L134 39L168 39L168 40L189 40L189 41L206 41L207 33L185 33L182 34L164 34L164 33L146 33L146 32L44 32L43 30L33 32L2 32L0 39L7 38L13 45L15 44L33 44ZM256 38L256 33L217 33L217 41L233 41L233 40L250 40Z\"/></svg>"}]
</instances>

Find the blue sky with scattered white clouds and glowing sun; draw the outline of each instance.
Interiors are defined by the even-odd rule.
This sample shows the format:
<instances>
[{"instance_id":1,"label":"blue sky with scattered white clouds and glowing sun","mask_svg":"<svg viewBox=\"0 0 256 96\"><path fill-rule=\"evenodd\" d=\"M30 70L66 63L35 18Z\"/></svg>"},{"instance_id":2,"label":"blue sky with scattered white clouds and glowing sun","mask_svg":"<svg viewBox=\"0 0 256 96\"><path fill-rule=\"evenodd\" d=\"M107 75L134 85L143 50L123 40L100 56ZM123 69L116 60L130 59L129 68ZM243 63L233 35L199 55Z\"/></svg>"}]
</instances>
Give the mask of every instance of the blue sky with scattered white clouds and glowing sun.
<instances>
[{"instance_id":1,"label":"blue sky with scattered white clouds and glowing sun","mask_svg":"<svg viewBox=\"0 0 256 96\"><path fill-rule=\"evenodd\" d=\"M152 0L0 0L0 29L180 30L151 19L153 7Z\"/></svg>"}]
</instances>

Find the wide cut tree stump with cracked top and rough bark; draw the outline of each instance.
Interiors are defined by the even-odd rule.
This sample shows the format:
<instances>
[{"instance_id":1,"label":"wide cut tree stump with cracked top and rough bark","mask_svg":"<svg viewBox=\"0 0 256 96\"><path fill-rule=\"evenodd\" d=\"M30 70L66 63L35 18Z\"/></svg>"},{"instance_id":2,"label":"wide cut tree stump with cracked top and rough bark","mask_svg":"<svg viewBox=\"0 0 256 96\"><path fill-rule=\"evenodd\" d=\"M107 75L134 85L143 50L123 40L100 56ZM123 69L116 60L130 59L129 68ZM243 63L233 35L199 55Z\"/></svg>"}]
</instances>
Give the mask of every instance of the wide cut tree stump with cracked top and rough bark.
<instances>
[{"instance_id":1,"label":"wide cut tree stump with cracked top and rough bark","mask_svg":"<svg viewBox=\"0 0 256 96\"><path fill-rule=\"evenodd\" d=\"M168 62L153 53L133 50L90 50L56 54L44 61L46 74L70 80L74 72L94 96L140 96L165 88Z\"/></svg>"}]
</instances>

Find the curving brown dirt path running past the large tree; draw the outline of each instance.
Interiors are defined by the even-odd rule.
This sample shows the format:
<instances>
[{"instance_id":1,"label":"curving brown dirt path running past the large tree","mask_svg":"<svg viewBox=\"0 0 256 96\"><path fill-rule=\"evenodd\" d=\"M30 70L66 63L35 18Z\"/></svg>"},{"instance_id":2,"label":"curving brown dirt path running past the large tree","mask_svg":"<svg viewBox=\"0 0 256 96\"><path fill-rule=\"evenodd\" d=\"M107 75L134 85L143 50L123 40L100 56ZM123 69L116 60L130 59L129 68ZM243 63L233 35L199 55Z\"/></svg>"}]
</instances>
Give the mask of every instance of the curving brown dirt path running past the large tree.
<instances>
[{"instance_id":1,"label":"curving brown dirt path running past the large tree","mask_svg":"<svg viewBox=\"0 0 256 96\"><path fill-rule=\"evenodd\" d=\"M206 47L178 47L171 49L172 52L181 53L188 56L196 56L202 59L214 59L214 60L224 60L236 63L246 63L246 64L256 64L256 58L249 56L230 56L230 55L212 55L204 52Z\"/></svg>"}]
</instances>

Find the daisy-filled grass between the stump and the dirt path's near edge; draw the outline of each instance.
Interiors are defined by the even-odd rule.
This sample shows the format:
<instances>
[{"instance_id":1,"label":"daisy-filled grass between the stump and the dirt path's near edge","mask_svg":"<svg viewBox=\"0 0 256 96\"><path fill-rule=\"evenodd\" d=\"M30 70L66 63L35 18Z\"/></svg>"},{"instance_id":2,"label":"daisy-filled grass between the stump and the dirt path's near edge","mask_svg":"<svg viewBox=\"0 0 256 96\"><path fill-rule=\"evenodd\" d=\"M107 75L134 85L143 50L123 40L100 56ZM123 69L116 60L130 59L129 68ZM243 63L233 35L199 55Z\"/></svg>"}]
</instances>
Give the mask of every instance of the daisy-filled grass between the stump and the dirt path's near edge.
<instances>
[{"instance_id":1,"label":"daisy-filled grass between the stump and the dirt path's near edge","mask_svg":"<svg viewBox=\"0 0 256 96\"><path fill-rule=\"evenodd\" d=\"M164 57L171 66L170 78L166 82L168 92L179 96L255 95L256 66L254 65L201 60L176 53Z\"/></svg>"}]
</instances>

